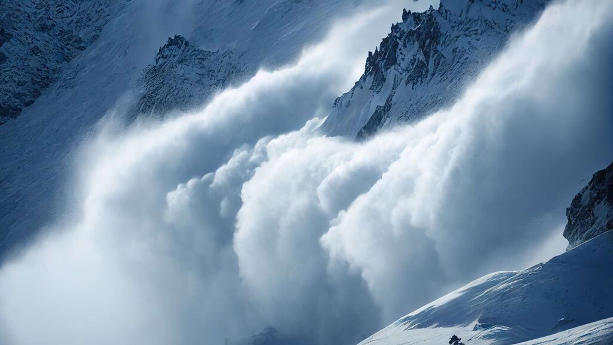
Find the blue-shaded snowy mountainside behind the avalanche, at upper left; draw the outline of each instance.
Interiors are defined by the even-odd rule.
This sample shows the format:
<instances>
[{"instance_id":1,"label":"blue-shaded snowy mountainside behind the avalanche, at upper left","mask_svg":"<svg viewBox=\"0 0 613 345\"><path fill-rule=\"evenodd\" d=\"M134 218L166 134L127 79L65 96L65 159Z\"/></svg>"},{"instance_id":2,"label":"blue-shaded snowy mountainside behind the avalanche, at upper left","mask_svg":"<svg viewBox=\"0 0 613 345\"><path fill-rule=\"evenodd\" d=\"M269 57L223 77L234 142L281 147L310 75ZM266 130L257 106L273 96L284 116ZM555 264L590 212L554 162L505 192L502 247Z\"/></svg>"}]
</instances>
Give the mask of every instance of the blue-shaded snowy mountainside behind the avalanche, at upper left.
<instances>
[{"instance_id":1,"label":"blue-shaded snowy mountainside behind the avalanche, at upper left","mask_svg":"<svg viewBox=\"0 0 613 345\"><path fill-rule=\"evenodd\" d=\"M98 2L105 3L95 3ZM76 17L66 19L73 24L85 20L87 29L76 26L74 32L91 44L78 44L78 47L86 47L85 50L77 49L80 53L70 55L71 60L63 61L61 68L58 64L53 74L55 82L49 83L44 90L37 88L40 96L36 102L24 107L18 118L9 118L0 126L3 160L0 165L0 256L7 248L36 233L45 222L57 219L57 210L71 202L69 195L75 195L75 191L62 187L67 185L67 176L72 171L69 157L75 157L80 142L95 130L94 126L104 115L124 117L134 108L142 107L147 111L163 105L167 109L185 109L199 102L202 104L207 101L207 95L235 80L226 76L242 76L242 72L253 73L258 66L276 66L294 60L305 45L326 34L333 18L348 15L360 2L134 0L126 6L120 6L121 2L103 6L105 10L97 12L101 16L97 19L89 20L89 12L79 20ZM31 9L43 3L38 0L8 1L2 2L2 6ZM73 2L57 3L75 6ZM85 2L74 3L79 4L74 7L75 11L91 8L96 13L98 8ZM118 12L113 16L116 6ZM2 78L14 78L15 83L3 82L1 87L13 88L18 83L17 76L28 71L28 67L24 64L22 68L20 63L9 68L11 56L32 61L32 68L36 70L42 64L50 66L50 62L39 61L28 53L34 45L41 49L40 56L47 56L45 59L65 55L61 53L64 41L56 42L50 35L37 31L37 24L45 22L47 12L1 12L2 28L9 23L6 18L21 15L23 22L16 21L15 25L18 22L20 26L15 28L22 28L23 37L34 37L31 45L22 44L14 53L9 53L6 51L12 47L9 43L18 42L15 38L18 35L13 34L12 29L3 31L1 51L8 58L1 67L2 71L10 71L3 72ZM102 20L107 24L98 24ZM5 38L9 34L13 37L7 41ZM190 48L175 56L170 59L172 62L162 58L156 63L156 52L175 34L186 37L193 50ZM98 38L93 41L95 37ZM50 43L36 41L47 38ZM245 68L247 64L250 67ZM223 70L225 68L229 70ZM31 79L34 75L27 72L23 78ZM7 93L0 92L0 95ZM20 95L23 102L32 99L25 91Z\"/></svg>"}]
</instances>

